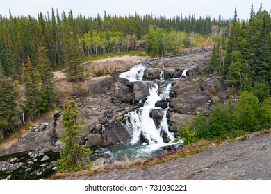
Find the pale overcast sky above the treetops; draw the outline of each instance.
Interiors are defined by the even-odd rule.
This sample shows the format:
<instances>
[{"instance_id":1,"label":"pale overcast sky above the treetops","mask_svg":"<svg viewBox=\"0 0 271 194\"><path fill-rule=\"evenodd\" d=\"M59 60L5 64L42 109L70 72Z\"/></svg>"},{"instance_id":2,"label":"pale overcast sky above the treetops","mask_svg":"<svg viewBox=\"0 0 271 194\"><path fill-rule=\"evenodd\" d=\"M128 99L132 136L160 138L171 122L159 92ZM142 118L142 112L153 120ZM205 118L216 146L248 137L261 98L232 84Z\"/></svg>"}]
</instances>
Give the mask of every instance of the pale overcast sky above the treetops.
<instances>
[{"instance_id":1,"label":"pale overcast sky above the treetops","mask_svg":"<svg viewBox=\"0 0 271 194\"><path fill-rule=\"evenodd\" d=\"M271 9L271 0L0 0L0 14L8 15L8 10L13 15L32 15L37 17L38 12L44 14L51 8L58 12L72 9L74 16L80 13L85 16L95 16L104 11L113 15L139 15L153 14L174 17L176 15L195 14L198 18L203 15L211 15L211 18L233 17L234 8L237 8L238 17L249 17L250 6L254 4L254 10L258 10L261 3L263 9Z\"/></svg>"}]
</instances>

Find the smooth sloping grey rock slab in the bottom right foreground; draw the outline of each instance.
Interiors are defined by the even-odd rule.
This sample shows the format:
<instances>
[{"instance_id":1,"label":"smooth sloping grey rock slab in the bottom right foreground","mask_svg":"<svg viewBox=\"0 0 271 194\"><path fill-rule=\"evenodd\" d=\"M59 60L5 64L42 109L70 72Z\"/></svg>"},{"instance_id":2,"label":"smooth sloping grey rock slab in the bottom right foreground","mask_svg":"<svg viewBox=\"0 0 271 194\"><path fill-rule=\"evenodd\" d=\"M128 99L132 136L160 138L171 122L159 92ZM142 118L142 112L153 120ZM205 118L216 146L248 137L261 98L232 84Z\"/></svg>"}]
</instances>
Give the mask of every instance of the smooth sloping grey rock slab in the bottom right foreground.
<instances>
[{"instance_id":1,"label":"smooth sloping grey rock slab in the bottom right foreground","mask_svg":"<svg viewBox=\"0 0 271 194\"><path fill-rule=\"evenodd\" d=\"M271 134L223 145L145 169L71 179L271 179Z\"/></svg>"}]
</instances>

